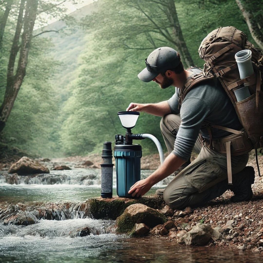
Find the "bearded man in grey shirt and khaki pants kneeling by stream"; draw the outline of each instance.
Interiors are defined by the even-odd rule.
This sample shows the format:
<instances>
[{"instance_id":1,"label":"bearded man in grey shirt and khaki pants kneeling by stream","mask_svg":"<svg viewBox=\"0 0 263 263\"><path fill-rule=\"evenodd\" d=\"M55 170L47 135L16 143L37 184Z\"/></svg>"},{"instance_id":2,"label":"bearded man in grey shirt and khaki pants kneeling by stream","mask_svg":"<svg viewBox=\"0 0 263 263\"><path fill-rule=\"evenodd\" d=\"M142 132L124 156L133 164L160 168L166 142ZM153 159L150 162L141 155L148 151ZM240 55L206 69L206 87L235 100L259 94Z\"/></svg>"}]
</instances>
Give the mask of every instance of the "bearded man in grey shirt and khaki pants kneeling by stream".
<instances>
[{"instance_id":1,"label":"bearded man in grey shirt and khaki pants kneeling by stream","mask_svg":"<svg viewBox=\"0 0 263 263\"><path fill-rule=\"evenodd\" d=\"M155 104L130 103L127 110L163 117L160 128L169 155L153 174L135 183L129 193L132 196L144 195L154 184L176 171L179 173L169 185L164 190L156 191L173 208L203 205L227 189L234 192L231 198L234 202L250 200L255 172L252 167L246 167L248 154L231 156L233 185L230 186L227 181L226 155L210 149L202 142L202 139L209 141L211 138L204 123L242 129L234 106L220 83L210 79L196 84L179 107L179 94L184 84L201 71L195 68L185 70L179 53L169 47L155 49L145 63L146 68L138 74L139 79L144 82L154 81L162 89L173 85L176 87L175 94L169 100ZM215 128L210 131L213 141L231 135ZM199 155L190 163L193 149Z\"/></svg>"}]
</instances>

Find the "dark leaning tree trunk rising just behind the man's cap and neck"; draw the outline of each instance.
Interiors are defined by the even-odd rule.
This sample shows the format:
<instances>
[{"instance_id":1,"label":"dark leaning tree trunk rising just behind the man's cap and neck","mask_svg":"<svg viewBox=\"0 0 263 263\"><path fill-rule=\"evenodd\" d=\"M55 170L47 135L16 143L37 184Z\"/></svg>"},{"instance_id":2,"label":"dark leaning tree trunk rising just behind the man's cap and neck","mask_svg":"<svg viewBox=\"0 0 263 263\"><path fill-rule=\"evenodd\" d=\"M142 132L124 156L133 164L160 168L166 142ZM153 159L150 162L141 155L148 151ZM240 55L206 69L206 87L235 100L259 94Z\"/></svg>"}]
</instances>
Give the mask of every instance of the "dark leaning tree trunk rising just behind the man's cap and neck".
<instances>
[{"instance_id":1,"label":"dark leaning tree trunk rising just behind the man's cap and neck","mask_svg":"<svg viewBox=\"0 0 263 263\"><path fill-rule=\"evenodd\" d=\"M166 0L165 3L167 4L167 18L169 19L172 25L175 42L178 48L178 52L180 53L181 59L184 62L184 65L187 66L188 68L194 66L193 59L189 53L189 50L186 46L183 37L174 0Z\"/></svg>"}]
</instances>

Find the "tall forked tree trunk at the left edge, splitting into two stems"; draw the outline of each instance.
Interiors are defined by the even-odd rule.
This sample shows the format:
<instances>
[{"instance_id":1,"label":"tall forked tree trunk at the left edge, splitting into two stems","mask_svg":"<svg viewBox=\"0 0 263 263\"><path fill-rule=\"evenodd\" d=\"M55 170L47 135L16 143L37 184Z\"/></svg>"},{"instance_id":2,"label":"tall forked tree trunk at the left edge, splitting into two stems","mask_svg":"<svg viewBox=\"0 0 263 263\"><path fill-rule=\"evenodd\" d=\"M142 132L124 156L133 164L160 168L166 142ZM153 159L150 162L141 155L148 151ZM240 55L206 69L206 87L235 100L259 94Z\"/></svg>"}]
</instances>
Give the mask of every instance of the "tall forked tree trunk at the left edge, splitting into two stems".
<instances>
[{"instance_id":1,"label":"tall forked tree trunk at the left edge, splitting into two stems","mask_svg":"<svg viewBox=\"0 0 263 263\"><path fill-rule=\"evenodd\" d=\"M19 60L18 60L16 74L13 75L14 62L16 60L16 56L18 52L19 36L23 25L22 16L24 11L24 3L25 1L21 0L16 33L14 36L13 45L9 57L6 93L4 96L4 101L0 108L0 132L4 129L6 121L11 113L14 102L16 100L18 91L26 75L28 53L30 49L34 23L37 16L38 0L27 0L26 11L24 15L24 27L23 27L21 48L19 53Z\"/></svg>"}]
</instances>

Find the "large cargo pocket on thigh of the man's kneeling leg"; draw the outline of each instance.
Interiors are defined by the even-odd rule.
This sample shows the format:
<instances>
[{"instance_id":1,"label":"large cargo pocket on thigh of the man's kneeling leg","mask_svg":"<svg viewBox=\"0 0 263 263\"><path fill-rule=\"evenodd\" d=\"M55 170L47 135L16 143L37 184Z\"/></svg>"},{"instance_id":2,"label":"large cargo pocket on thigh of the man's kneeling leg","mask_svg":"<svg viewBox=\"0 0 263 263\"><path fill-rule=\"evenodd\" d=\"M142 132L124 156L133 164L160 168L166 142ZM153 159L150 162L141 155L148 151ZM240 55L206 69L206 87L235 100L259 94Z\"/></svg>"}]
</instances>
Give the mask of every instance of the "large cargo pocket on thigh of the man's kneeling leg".
<instances>
[{"instance_id":1,"label":"large cargo pocket on thigh of the man's kneeling leg","mask_svg":"<svg viewBox=\"0 0 263 263\"><path fill-rule=\"evenodd\" d=\"M202 160L184 174L186 180L199 192L226 179L227 175L211 160Z\"/></svg>"}]
</instances>

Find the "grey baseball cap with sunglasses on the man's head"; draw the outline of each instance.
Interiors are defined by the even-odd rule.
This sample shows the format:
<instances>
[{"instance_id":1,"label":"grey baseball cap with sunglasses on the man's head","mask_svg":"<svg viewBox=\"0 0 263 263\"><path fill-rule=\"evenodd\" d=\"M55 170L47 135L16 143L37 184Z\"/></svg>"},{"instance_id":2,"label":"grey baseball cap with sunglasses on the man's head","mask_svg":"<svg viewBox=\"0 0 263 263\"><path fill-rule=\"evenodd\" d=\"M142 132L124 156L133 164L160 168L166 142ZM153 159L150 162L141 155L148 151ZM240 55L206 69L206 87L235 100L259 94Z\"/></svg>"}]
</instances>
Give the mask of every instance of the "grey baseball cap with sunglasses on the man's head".
<instances>
[{"instance_id":1,"label":"grey baseball cap with sunglasses on the man's head","mask_svg":"<svg viewBox=\"0 0 263 263\"><path fill-rule=\"evenodd\" d=\"M146 68L138 74L138 78L144 82L150 82L161 72L175 68L179 63L180 58L177 55L177 51L173 48L156 48L145 59Z\"/></svg>"}]
</instances>

